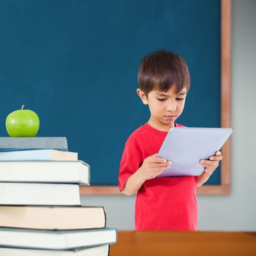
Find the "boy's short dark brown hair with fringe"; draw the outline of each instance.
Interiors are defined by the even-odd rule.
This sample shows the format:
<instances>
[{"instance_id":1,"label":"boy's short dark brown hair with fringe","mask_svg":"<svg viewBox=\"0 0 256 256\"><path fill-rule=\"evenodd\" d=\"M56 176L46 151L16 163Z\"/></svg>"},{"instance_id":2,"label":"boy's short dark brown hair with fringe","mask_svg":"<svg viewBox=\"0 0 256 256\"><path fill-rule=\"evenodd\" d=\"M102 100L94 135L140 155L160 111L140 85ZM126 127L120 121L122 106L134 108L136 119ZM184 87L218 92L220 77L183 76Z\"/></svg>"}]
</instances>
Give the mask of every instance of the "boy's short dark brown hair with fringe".
<instances>
[{"instance_id":1,"label":"boy's short dark brown hair with fringe","mask_svg":"<svg viewBox=\"0 0 256 256\"><path fill-rule=\"evenodd\" d=\"M189 69L186 61L175 53L167 50L157 50L145 56L138 71L139 88L146 97L153 89L168 91L176 86L176 94L190 87Z\"/></svg>"}]
</instances>

